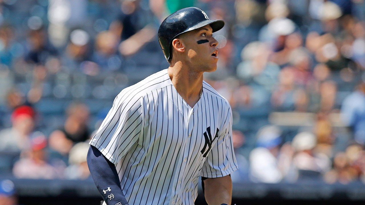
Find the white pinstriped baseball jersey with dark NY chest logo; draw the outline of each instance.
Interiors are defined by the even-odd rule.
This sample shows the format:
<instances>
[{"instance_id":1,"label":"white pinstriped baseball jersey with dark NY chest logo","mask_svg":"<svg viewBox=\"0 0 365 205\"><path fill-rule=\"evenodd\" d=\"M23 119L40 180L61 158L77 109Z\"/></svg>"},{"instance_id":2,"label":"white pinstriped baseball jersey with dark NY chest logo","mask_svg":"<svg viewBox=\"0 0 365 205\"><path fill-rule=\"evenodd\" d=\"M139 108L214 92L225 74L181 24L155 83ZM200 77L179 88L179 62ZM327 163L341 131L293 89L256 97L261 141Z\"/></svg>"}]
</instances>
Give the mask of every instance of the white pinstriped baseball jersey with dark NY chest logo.
<instances>
[{"instance_id":1,"label":"white pinstriped baseball jersey with dark NY chest logo","mask_svg":"<svg viewBox=\"0 0 365 205\"><path fill-rule=\"evenodd\" d=\"M199 175L238 169L227 100L203 81L191 108L167 69L123 89L90 144L115 164L129 204L193 205Z\"/></svg>"}]
</instances>

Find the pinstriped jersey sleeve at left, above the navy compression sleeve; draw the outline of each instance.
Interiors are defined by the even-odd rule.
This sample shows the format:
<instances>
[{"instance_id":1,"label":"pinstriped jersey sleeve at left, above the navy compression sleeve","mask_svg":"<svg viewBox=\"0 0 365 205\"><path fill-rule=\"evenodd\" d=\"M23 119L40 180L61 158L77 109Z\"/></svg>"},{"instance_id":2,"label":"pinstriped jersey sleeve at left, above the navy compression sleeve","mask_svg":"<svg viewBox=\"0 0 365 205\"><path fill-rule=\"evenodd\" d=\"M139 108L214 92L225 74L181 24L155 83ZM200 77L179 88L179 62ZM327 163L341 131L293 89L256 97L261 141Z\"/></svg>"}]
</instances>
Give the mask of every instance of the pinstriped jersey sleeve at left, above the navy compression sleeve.
<instances>
[{"instance_id":1,"label":"pinstriped jersey sleeve at left, above the navy compression sleeve","mask_svg":"<svg viewBox=\"0 0 365 205\"><path fill-rule=\"evenodd\" d=\"M143 98L117 96L90 143L116 164L138 142L143 121Z\"/></svg>"}]
</instances>

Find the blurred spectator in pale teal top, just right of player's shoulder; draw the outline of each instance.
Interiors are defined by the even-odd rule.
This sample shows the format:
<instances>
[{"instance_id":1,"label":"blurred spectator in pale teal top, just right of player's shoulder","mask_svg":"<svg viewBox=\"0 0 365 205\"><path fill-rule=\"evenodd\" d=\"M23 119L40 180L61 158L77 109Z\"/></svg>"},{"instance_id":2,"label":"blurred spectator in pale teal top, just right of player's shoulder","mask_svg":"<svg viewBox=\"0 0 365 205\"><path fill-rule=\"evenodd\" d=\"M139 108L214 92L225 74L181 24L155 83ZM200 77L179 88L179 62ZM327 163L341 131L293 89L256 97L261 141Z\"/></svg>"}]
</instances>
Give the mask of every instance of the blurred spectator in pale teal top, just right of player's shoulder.
<instances>
[{"instance_id":1,"label":"blurred spectator in pale teal top, just right of player's shoulder","mask_svg":"<svg viewBox=\"0 0 365 205\"><path fill-rule=\"evenodd\" d=\"M258 110L269 112L270 93L278 84L280 72L280 67L268 59L271 53L263 42L251 42L242 49L242 62L236 71L240 85L232 88L237 109L252 114Z\"/></svg>"}]
</instances>

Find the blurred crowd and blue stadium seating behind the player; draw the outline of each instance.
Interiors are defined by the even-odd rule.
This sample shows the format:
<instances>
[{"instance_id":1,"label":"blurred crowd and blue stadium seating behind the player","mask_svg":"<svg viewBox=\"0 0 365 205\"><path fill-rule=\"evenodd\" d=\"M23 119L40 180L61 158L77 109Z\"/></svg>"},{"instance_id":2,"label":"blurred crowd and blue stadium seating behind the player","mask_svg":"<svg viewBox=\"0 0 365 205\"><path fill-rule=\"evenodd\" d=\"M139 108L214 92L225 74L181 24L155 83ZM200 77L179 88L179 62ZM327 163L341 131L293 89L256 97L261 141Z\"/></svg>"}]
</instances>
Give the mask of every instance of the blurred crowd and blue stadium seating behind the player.
<instances>
[{"instance_id":1,"label":"blurred crowd and blue stadium seating behind the player","mask_svg":"<svg viewBox=\"0 0 365 205\"><path fill-rule=\"evenodd\" d=\"M233 108L233 204L365 201L364 0L0 2L0 204L99 204L89 139L189 6L226 22L204 80Z\"/></svg>"}]
</instances>

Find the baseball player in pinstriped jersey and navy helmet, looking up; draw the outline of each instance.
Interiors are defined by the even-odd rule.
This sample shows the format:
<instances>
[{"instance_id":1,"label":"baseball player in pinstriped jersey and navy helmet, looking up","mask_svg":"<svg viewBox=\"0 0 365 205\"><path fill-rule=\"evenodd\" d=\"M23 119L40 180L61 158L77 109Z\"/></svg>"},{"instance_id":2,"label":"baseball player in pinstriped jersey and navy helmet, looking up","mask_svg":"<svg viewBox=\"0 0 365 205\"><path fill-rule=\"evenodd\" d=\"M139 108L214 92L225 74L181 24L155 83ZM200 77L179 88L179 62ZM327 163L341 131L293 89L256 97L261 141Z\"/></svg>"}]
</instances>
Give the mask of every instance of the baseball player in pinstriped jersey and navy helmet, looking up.
<instances>
[{"instance_id":1,"label":"baseball player in pinstriped jersey and navy helmet, looking up","mask_svg":"<svg viewBox=\"0 0 365 205\"><path fill-rule=\"evenodd\" d=\"M223 26L196 7L161 23L169 68L123 89L90 142L87 162L103 204L193 205L199 176L209 205L231 203L231 107L203 81L216 70L212 33Z\"/></svg>"}]
</instances>

